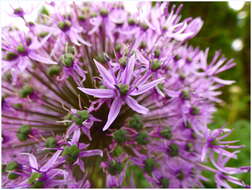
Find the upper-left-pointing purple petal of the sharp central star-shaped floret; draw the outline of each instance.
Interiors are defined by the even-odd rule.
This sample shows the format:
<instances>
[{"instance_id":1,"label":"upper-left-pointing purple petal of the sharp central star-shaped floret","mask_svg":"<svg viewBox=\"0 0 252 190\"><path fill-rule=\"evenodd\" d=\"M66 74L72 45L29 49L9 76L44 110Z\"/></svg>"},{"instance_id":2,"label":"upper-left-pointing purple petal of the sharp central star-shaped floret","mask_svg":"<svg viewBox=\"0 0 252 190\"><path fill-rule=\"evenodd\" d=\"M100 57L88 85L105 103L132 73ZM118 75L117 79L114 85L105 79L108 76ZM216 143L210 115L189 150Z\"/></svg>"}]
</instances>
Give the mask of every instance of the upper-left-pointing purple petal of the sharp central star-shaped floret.
<instances>
[{"instance_id":1,"label":"upper-left-pointing purple petal of the sharp central star-shaped floret","mask_svg":"<svg viewBox=\"0 0 252 190\"><path fill-rule=\"evenodd\" d=\"M95 59L94 59L94 62L95 62L95 65L96 65L101 77L103 78L104 85L106 85L107 87L112 88L112 89L115 88L114 87L115 79L112 76L112 74L104 66L102 66L99 62L97 62Z\"/></svg>"}]
</instances>

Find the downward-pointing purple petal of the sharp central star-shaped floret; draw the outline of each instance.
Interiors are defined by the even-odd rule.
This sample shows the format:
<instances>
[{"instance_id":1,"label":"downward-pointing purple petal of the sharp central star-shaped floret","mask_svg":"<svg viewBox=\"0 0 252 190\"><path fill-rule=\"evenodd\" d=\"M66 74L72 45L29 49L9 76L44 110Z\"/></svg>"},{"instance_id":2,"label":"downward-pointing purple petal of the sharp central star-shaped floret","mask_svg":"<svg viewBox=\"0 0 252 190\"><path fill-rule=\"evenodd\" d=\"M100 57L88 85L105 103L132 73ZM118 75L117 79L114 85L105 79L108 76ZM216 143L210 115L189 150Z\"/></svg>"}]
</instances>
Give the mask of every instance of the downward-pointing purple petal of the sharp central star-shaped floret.
<instances>
[{"instance_id":1,"label":"downward-pointing purple petal of the sharp central star-shaped floret","mask_svg":"<svg viewBox=\"0 0 252 190\"><path fill-rule=\"evenodd\" d=\"M105 126L102 129L103 131L107 130L109 128L109 126L113 123L113 121L116 119L117 115L120 112L122 104L123 104L123 102L119 97L114 99L114 101L111 105L111 108L109 110L107 123L105 124Z\"/></svg>"}]
</instances>

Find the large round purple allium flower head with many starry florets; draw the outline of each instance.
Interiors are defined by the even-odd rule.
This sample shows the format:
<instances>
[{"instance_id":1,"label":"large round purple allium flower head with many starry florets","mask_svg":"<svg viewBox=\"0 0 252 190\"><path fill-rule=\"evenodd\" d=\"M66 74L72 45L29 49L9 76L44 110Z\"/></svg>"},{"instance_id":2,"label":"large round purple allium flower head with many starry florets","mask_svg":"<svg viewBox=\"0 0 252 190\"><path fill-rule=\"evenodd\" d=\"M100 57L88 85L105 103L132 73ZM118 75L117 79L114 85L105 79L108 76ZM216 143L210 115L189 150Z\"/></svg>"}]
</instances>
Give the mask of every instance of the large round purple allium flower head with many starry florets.
<instances>
[{"instance_id":1,"label":"large round purple allium flower head with many starry florets","mask_svg":"<svg viewBox=\"0 0 252 190\"><path fill-rule=\"evenodd\" d=\"M45 4L27 32L2 30L2 185L5 188L248 187L231 168L242 146L209 129L219 89L233 81L220 52L186 44L200 18L182 6ZM18 11L19 10L19 11ZM210 62L209 62L210 60Z\"/></svg>"}]
</instances>

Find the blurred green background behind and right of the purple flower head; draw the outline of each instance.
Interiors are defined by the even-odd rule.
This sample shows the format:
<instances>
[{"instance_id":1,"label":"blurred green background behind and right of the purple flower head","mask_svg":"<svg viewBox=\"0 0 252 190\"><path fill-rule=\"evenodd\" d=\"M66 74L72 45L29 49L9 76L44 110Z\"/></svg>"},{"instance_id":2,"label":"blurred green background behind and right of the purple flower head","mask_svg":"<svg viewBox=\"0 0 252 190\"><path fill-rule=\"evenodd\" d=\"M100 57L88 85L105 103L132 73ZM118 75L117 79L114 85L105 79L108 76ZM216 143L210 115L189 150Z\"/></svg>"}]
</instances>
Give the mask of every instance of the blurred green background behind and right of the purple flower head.
<instances>
[{"instance_id":1,"label":"blurred green background behind and right of the purple flower head","mask_svg":"<svg viewBox=\"0 0 252 190\"><path fill-rule=\"evenodd\" d=\"M250 2L243 6L239 1L228 2L183 2L182 19L201 17L204 21L199 34L188 44L206 49L210 47L211 57L216 50L221 50L229 59L234 58L236 67L222 73L223 79L235 80L236 83L222 88L223 104L217 105L211 129L225 126L233 133L227 139L240 140L246 147L241 149L237 160L231 160L230 167L250 165ZM238 4L237 4L238 2ZM173 2L173 4L181 4ZM240 8L240 9L239 9ZM147 181L137 169L137 185L148 187ZM213 177L204 173L211 180L204 185L216 187ZM236 175L250 184L250 173ZM232 187L238 187L232 185Z\"/></svg>"}]
</instances>

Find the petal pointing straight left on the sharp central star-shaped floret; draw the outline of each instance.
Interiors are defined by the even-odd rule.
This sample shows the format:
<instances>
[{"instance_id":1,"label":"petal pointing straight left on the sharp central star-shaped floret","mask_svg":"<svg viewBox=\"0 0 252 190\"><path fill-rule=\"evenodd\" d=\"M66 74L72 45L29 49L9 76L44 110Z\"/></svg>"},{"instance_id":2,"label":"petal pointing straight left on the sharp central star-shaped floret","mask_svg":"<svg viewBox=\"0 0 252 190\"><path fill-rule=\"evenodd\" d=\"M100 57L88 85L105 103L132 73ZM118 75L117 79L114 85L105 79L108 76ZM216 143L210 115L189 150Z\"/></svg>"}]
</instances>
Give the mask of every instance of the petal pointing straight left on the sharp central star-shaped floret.
<instances>
[{"instance_id":1,"label":"petal pointing straight left on the sharp central star-shaped floret","mask_svg":"<svg viewBox=\"0 0 252 190\"><path fill-rule=\"evenodd\" d=\"M114 91L111 89L92 89L78 87L82 92L97 98L113 98Z\"/></svg>"}]
</instances>

